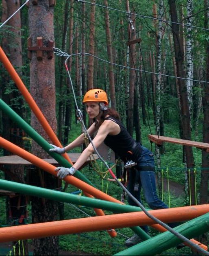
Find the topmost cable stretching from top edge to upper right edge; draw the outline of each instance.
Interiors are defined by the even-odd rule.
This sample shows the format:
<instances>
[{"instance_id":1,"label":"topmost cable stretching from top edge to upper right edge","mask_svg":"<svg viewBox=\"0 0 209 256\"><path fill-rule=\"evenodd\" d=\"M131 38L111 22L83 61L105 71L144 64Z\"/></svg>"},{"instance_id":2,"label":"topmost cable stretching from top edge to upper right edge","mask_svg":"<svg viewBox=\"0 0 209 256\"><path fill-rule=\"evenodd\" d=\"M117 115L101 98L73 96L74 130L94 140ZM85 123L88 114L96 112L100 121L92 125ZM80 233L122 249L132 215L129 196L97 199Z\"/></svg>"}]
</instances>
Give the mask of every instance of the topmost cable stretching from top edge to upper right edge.
<instances>
[{"instance_id":1,"label":"topmost cable stretching from top edge to upper right edge","mask_svg":"<svg viewBox=\"0 0 209 256\"><path fill-rule=\"evenodd\" d=\"M180 22L173 22L173 21L170 21L170 20L162 20L162 19L155 18L155 17L152 17L152 16L146 16L146 15L141 15L141 14L137 14L137 13L131 13L131 12L129 13L129 12L127 12L127 11L122 11L122 10L115 9L115 8L112 8L112 7L107 7L107 6L104 6L104 5L101 5L101 4L95 4L95 3L88 2L88 1L85 1L85 0L75 0L75 1L77 1L77 2L82 2L82 3L84 3L84 4L87 3L87 4L96 5L96 6L98 6L98 7L110 9L110 10L113 10L113 11L118 11L118 12L121 12L121 13L134 14L134 15L139 16L139 17L141 17L141 18L148 18L148 19L151 19L151 20L159 20L159 21L162 21L162 22L165 22L165 23L177 24L177 25L187 26L187 27L190 27L190 28L199 28L199 29L202 29L202 30L209 31L208 28L202 28L202 27L198 27L198 26L192 26L192 25L183 24L183 23L180 23ZM190 17L187 17L187 18L190 18ZM185 18L185 19L187 19L187 18Z\"/></svg>"}]
</instances>

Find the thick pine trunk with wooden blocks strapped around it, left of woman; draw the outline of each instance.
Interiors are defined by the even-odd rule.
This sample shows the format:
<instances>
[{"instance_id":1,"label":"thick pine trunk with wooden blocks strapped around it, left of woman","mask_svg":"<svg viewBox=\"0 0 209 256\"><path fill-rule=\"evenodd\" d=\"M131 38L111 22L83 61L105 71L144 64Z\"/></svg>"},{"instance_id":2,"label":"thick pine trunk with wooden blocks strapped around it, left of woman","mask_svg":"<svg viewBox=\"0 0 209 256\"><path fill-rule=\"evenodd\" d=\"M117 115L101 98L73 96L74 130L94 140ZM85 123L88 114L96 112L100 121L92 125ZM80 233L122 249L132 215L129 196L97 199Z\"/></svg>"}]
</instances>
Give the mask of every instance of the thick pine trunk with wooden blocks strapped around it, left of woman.
<instances>
[{"instance_id":1,"label":"thick pine trunk with wooden blocks strapped around it, left of woman","mask_svg":"<svg viewBox=\"0 0 209 256\"><path fill-rule=\"evenodd\" d=\"M49 1L38 1L37 5L33 5L30 2L28 15L32 46L37 46L37 37L43 38L43 46L47 46L48 40L54 42L54 8L49 7ZM56 133L54 57L48 59L47 53L45 51L42 53L42 60L37 60L36 51L33 51L31 55L30 92ZM33 113L31 113L31 126L46 140L50 141ZM49 157L35 142L32 143L31 151L39 158ZM33 186L43 186L50 189L57 188L57 179L39 168L35 168L33 174L31 173L30 183ZM58 219L57 202L32 197L31 205L33 223L56 221ZM56 236L34 239L33 245L35 247L34 255L58 255L59 246L58 237Z\"/></svg>"}]
</instances>

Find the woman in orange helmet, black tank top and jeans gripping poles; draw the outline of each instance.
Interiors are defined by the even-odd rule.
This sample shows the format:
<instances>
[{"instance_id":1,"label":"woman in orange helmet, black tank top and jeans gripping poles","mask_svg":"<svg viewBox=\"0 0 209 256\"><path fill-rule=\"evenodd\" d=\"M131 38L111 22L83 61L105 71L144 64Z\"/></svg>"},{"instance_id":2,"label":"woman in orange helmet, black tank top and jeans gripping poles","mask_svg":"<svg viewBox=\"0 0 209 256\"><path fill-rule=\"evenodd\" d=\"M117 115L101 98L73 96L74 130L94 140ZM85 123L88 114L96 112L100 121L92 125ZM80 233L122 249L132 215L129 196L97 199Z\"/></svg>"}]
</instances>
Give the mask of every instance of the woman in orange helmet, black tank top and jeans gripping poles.
<instances>
[{"instance_id":1,"label":"woman in orange helmet, black tank top and jeans gripping poles","mask_svg":"<svg viewBox=\"0 0 209 256\"><path fill-rule=\"evenodd\" d=\"M83 103L86 105L89 118L94 120L94 123L88 129L88 133L91 136L97 131L96 136L92 140L94 146L97 148L104 142L104 144L117 153L124 162L133 161L136 163L135 170L129 172L128 191L141 202L140 192L141 188L143 188L144 197L150 208L168 208L157 196L153 153L135 142L120 122L119 114L115 110L107 108L108 100L106 92L100 89L89 90L83 98ZM83 143L84 134L81 134L64 148L52 145L54 149L50 149L50 151L63 154ZM71 168L58 167L56 169L56 171L58 171L57 176L63 179L66 175L73 175L93 152L94 148L90 143ZM128 203L132 206L136 206L135 202L129 197ZM148 232L147 226L141 228ZM126 241L126 245L131 246L139 241L139 236L134 235Z\"/></svg>"}]
</instances>

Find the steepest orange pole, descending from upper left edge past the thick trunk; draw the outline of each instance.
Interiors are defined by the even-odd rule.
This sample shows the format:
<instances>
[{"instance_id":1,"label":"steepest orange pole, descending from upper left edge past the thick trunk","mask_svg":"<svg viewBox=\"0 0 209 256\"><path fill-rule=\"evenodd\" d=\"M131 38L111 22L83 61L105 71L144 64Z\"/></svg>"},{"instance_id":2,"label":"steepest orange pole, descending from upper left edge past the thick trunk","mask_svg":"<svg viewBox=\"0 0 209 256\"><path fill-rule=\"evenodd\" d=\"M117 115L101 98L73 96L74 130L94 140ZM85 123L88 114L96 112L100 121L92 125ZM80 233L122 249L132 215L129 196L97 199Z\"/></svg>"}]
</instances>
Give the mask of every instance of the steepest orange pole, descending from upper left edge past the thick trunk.
<instances>
[{"instance_id":1,"label":"steepest orange pole, descending from upper left edge past the thick trunk","mask_svg":"<svg viewBox=\"0 0 209 256\"><path fill-rule=\"evenodd\" d=\"M20 77L17 74L16 70L13 68L11 62L7 58L7 55L4 53L3 49L1 48L1 46L0 46L0 61L2 61L2 63L4 64L4 67L7 69L7 71L9 72L9 74L11 76L11 78L15 82L17 88L20 90L20 92L24 96L26 102L28 103L30 108L33 110L35 116L38 118L38 120L41 123L42 127L44 128L44 130L48 134L50 140L52 140L52 143L55 144L58 147L62 147L62 145L61 145L60 141L58 140L56 134L54 133L54 131L50 127L48 121L46 120L45 116L42 114L42 112L39 109L38 105L36 104L36 102L34 101L33 97L31 96L30 92L28 92L28 89L26 88L26 86L24 85L22 80L20 79ZM73 165L73 163L72 163L71 159L69 158L69 156L67 155L67 153L64 153L63 156L64 156L64 158L68 162L70 162L70 164ZM89 196L89 195L87 195L87 196ZM98 214L99 216L103 216L104 212L102 210L100 210L100 209L97 209L96 210L96 214ZM109 234L112 237L117 235L115 232L113 232L113 233L109 232Z\"/></svg>"}]
</instances>

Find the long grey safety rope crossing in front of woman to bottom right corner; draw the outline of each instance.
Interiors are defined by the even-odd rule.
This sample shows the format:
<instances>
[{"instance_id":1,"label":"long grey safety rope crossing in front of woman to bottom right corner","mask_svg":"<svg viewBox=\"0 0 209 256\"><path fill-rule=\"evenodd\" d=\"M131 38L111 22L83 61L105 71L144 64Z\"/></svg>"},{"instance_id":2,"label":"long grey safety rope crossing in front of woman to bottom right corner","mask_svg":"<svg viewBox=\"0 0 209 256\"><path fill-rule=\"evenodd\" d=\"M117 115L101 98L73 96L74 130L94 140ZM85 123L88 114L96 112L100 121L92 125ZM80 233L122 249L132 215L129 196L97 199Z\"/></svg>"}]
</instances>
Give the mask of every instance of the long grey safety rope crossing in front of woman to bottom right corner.
<instances>
[{"instance_id":1,"label":"long grey safety rope crossing in front of woman to bottom right corner","mask_svg":"<svg viewBox=\"0 0 209 256\"><path fill-rule=\"evenodd\" d=\"M57 48L56 48L57 49ZM55 50L55 48L54 48ZM60 51L60 50L59 50ZM79 53L78 53L79 54ZM153 221L157 222L158 224L160 224L161 226L163 226L163 228L165 228L166 230L168 230L169 232L171 232L172 234L174 234L176 237L178 237L181 241L186 242L190 247L192 247L195 251L203 253L205 255L209 255L209 252L206 252L204 249L202 249L201 247L198 247L198 245L194 244L193 242L191 242L188 238L186 238L185 236L183 236L182 234L180 234L179 232L177 232L176 230L173 230L172 228L170 228L170 226L168 226L167 224L163 223L162 221L160 221L159 219L157 219L156 217L152 216L152 214L150 214L146 208L142 205L142 203L140 203L128 190L127 188L118 180L118 178L115 176L115 174L113 173L113 171L111 170L111 168L108 166L108 164L104 161L104 159L101 157L100 153L98 152L98 150L96 149L96 147L94 146L93 141L91 140L91 136L89 135L87 128L85 127L85 123L83 120L83 114L81 112L81 109L78 108L78 104L77 104L77 100L76 100L76 95L74 92L74 86L72 83L72 79L71 79L71 75L70 75L70 71L68 69L67 66L67 61L69 59L69 57L72 57L73 55L78 55L78 54L71 54L68 55L67 53L65 53L65 55L68 55L65 59L65 68L69 77L69 87L72 89L72 94L74 97L74 103L76 105L76 114L78 116L78 120L82 123L83 125L83 129L85 129L85 132L89 138L89 141L91 142L91 145L94 149L94 151L96 152L96 154L98 155L98 157L100 158L100 160L102 160L102 162L104 163L104 165L107 167L109 173L111 174L111 176L113 177L113 179L115 179L115 181L118 183L118 185L126 192L126 194L136 203L137 206L139 206L142 211ZM80 53L81 54L81 53ZM88 53L88 55L90 55ZM94 55L92 55L94 56Z\"/></svg>"}]
</instances>

